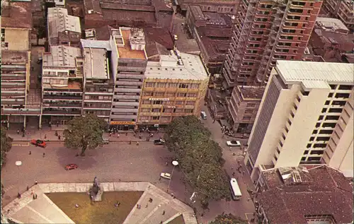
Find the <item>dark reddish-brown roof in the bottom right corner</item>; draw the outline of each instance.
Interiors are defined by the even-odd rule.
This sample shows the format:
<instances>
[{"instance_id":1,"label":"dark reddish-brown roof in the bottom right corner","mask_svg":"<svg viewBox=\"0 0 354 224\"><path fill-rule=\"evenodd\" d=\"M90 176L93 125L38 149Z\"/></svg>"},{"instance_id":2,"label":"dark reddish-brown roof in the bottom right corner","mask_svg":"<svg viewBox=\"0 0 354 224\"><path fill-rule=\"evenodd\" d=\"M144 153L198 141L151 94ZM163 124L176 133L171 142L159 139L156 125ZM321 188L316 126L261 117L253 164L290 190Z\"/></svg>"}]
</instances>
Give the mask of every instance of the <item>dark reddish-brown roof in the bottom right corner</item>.
<instances>
[{"instance_id":1,"label":"dark reddish-brown roof in the bottom right corner","mask_svg":"<svg viewBox=\"0 0 354 224\"><path fill-rule=\"evenodd\" d=\"M323 165L298 175L303 182L284 183L277 178L280 175L272 180L273 188L257 197L269 223L308 223L310 215L330 215L336 223L353 222L353 187L341 172Z\"/></svg>"}]
</instances>

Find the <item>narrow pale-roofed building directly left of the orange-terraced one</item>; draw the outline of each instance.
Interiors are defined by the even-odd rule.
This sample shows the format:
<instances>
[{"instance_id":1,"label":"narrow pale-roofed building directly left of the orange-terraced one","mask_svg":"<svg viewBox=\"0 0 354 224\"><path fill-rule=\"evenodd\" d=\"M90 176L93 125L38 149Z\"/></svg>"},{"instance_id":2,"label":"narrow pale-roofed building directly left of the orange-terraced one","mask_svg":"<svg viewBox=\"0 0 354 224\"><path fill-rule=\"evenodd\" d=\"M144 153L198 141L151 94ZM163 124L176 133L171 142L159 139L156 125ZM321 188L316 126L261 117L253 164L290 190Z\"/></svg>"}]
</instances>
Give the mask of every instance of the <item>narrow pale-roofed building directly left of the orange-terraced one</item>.
<instances>
[{"instance_id":1,"label":"narrow pale-roofed building directly left of the orange-terraced one","mask_svg":"<svg viewBox=\"0 0 354 224\"><path fill-rule=\"evenodd\" d=\"M82 114L96 114L109 122L114 80L110 72L108 41L81 40L84 55Z\"/></svg>"}]
</instances>

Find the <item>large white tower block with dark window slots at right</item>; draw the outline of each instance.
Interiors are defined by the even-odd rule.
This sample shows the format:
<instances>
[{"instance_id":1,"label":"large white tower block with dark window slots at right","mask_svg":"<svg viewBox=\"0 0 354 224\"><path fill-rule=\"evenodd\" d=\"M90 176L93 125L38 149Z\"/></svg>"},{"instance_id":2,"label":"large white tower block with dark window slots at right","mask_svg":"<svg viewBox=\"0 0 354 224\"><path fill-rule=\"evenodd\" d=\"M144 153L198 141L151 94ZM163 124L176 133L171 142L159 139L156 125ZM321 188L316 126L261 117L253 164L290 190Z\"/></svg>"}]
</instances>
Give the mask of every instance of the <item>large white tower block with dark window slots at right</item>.
<instances>
[{"instance_id":1,"label":"large white tower block with dark window slots at right","mask_svg":"<svg viewBox=\"0 0 354 224\"><path fill-rule=\"evenodd\" d=\"M249 138L246 167L327 163L353 177L353 64L277 61Z\"/></svg>"}]
</instances>

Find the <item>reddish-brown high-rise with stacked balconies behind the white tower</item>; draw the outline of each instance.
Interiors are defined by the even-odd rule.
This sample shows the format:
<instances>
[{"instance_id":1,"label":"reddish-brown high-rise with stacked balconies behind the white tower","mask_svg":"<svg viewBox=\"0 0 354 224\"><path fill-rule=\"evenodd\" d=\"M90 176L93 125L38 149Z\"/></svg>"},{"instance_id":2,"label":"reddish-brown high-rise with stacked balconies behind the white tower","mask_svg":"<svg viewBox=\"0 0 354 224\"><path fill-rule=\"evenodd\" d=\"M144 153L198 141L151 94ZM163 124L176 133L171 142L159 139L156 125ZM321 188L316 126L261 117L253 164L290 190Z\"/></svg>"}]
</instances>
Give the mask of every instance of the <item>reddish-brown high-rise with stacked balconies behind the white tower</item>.
<instances>
[{"instance_id":1,"label":"reddish-brown high-rise with stacked balconies behind the white tower","mask_svg":"<svg viewBox=\"0 0 354 224\"><path fill-rule=\"evenodd\" d=\"M266 83L278 59L301 60L322 1L240 1L224 61L227 86Z\"/></svg>"}]
</instances>

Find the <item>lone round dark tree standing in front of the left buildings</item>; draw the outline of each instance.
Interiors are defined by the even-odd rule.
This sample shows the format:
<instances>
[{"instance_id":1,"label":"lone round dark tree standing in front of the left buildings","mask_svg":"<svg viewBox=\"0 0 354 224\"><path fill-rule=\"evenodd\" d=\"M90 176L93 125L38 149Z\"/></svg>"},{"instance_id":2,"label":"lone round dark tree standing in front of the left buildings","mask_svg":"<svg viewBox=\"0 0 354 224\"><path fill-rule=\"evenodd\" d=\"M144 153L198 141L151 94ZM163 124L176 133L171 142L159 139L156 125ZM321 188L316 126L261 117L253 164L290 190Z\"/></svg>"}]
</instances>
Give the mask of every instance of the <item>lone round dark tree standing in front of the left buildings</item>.
<instances>
[{"instance_id":1,"label":"lone round dark tree standing in front of the left buildings","mask_svg":"<svg viewBox=\"0 0 354 224\"><path fill-rule=\"evenodd\" d=\"M74 117L65 129L63 136L67 148L81 148L81 156L85 155L87 148L93 149L103 145L103 129L106 124L103 119L94 114L85 117Z\"/></svg>"}]
</instances>

